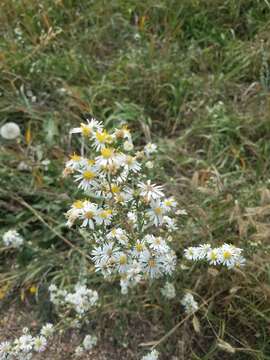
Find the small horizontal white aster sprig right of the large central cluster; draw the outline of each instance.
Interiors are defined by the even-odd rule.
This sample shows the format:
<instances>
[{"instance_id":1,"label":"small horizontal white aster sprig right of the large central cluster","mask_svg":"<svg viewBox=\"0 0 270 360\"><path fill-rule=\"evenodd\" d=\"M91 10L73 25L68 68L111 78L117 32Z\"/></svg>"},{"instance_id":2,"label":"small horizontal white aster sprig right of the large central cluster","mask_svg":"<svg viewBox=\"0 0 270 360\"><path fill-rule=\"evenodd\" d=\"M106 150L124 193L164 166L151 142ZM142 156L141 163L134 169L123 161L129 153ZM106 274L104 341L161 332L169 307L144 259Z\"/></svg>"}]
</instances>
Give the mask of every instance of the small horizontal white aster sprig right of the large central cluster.
<instances>
[{"instance_id":1,"label":"small horizontal white aster sprig right of the large central cluster","mask_svg":"<svg viewBox=\"0 0 270 360\"><path fill-rule=\"evenodd\" d=\"M206 260L210 265L223 265L229 269L245 264L245 258L241 253L242 249L231 244L223 244L217 248L212 248L210 244L203 244L184 250L184 256L188 260Z\"/></svg>"}]
</instances>

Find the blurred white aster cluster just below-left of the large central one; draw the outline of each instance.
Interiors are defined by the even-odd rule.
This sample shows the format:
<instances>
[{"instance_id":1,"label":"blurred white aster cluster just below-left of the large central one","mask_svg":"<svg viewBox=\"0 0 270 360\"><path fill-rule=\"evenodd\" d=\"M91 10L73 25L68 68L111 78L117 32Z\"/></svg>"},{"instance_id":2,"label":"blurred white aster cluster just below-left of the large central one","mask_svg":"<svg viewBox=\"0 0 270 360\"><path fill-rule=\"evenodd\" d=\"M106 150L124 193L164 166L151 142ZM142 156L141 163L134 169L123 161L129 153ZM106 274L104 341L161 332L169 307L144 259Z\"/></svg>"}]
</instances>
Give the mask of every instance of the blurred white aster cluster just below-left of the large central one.
<instances>
[{"instance_id":1,"label":"blurred white aster cluster just below-left of the large central one","mask_svg":"<svg viewBox=\"0 0 270 360\"><path fill-rule=\"evenodd\" d=\"M78 318L97 305L98 293L88 289L85 285L76 284L74 292L68 292L57 288L52 284L49 286L50 300L57 307L74 310Z\"/></svg>"}]
</instances>

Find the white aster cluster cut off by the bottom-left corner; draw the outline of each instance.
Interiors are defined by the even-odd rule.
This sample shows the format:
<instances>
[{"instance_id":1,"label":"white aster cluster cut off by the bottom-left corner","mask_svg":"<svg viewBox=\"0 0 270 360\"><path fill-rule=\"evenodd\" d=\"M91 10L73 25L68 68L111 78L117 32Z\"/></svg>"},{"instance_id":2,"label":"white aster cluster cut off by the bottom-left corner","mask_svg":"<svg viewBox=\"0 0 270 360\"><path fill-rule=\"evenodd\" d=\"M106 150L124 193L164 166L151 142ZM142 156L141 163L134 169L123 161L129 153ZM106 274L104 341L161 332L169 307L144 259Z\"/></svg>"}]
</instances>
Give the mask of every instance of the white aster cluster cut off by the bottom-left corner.
<instances>
[{"instance_id":1,"label":"white aster cluster cut off by the bottom-left corner","mask_svg":"<svg viewBox=\"0 0 270 360\"><path fill-rule=\"evenodd\" d=\"M13 341L0 343L0 360L30 360L35 353L46 350L54 328L46 324L37 336L32 336L28 328L23 329L23 335Z\"/></svg>"}]
</instances>

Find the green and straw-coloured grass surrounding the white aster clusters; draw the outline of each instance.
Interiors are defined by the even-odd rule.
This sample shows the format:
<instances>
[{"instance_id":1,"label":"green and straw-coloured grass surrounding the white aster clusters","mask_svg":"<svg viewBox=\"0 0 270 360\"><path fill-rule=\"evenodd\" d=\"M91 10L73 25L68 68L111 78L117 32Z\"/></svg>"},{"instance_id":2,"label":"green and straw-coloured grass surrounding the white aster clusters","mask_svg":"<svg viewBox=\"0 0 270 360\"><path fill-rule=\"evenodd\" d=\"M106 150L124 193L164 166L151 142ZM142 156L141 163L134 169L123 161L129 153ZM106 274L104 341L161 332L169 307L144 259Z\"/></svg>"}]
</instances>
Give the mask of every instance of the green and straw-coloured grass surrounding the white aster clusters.
<instances>
[{"instance_id":1,"label":"green and straw-coloured grass surrounding the white aster clusters","mask_svg":"<svg viewBox=\"0 0 270 360\"><path fill-rule=\"evenodd\" d=\"M164 359L270 359L269 31L267 0L1 2L0 124L17 122L23 136L1 139L0 224L27 239L19 254L0 250L4 302L90 271L82 237L65 227L76 197L61 177L68 133L86 113L108 126L124 119L138 145L151 137L160 146L155 176L189 216L174 244L177 299L166 304L156 283L125 301L92 276L105 304L98 326L134 350L134 319L145 326L141 342L161 339L183 320L179 300L191 289L205 302L200 331L186 320L160 344ZM18 170L22 161L30 170ZM184 247L200 242L243 247L246 268L183 270Z\"/></svg>"}]
</instances>

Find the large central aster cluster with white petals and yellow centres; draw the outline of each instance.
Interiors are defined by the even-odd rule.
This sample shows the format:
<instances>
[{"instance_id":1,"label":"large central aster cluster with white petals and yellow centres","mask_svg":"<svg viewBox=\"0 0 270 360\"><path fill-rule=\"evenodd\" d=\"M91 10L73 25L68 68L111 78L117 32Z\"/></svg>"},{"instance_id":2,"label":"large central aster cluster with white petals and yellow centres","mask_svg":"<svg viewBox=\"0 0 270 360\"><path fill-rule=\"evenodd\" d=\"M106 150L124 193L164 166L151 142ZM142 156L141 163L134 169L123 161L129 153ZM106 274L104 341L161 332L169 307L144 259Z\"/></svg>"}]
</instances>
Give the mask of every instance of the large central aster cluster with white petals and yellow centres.
<instances>
[{"instance_id":1,"label":"large central aster cluster with white petals and yellow centres","mask_svg":"<svg viewBox=\"0 0 270 360\"><path fill-rule=\"evenodd\" d=\"M167 241L177 229L174 216L183 211L145 175L157 146L135 152L126 126L109 133L95 119L71 133L82 136L91 157L74 154L66 163L64 175L86 196L68 210L67 225L88 229L96 271L119 276L124 294L143 279L171 274L176 255Z\"/></svg>"}]
</instances>

